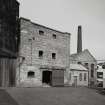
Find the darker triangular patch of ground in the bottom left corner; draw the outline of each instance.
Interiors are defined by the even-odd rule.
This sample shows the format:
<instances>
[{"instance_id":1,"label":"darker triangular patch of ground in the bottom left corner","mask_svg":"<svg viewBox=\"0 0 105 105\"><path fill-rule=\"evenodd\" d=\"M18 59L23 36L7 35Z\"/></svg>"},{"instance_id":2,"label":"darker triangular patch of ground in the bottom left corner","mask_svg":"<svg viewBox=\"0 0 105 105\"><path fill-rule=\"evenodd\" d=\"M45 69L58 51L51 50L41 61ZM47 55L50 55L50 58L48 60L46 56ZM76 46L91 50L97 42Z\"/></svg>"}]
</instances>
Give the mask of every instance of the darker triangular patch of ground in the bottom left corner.
<instances>
[{"instance_id":1,"label":"darker triangular patch of ground in the bottom left corner","mask_svg":"<svg viewBox=\"0 0 105 105\"><path fill-rule=\"evenodd\" d=\"M18 104L5 90L0 89L0 105L18 105Z\"/></svg>"}]
</instances>

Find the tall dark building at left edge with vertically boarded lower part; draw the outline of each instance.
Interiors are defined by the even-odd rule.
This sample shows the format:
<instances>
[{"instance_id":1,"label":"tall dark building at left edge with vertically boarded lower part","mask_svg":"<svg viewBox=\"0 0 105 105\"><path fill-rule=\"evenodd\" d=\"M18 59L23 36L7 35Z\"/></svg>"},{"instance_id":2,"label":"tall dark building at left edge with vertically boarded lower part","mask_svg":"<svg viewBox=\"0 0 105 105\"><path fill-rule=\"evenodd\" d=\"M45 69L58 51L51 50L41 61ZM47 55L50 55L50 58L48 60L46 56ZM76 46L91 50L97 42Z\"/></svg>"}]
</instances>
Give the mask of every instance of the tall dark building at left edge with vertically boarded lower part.
<instances>
[{"instance_id":1,"label":"tall dark building at left edge with vertically boarded lower part","mask_svg":"<svg viewBox=\"0 0 105 105\"><path fill-rule=\"evenodd\" d=\"M0 86L15 85L19 43L19 3L0 0Z\"/></svg>"}]
</instances>

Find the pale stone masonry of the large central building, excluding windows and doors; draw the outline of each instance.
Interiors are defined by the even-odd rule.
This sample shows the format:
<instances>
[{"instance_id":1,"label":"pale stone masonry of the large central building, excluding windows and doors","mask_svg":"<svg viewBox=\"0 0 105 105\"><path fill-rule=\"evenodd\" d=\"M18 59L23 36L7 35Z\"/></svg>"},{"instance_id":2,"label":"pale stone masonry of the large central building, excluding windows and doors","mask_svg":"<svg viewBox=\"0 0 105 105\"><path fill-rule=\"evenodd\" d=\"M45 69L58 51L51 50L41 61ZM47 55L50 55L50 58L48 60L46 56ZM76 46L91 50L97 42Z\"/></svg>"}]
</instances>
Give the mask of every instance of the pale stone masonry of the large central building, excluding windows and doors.
<instances>
[{"instance_id":1,"label":"pale stone masonry of the large central building, excluding windows and doors","mask_svg":"<svg viewBox=\"0 0 105 105\"><path fill-rule=\"evenodd\" d=\"M20 58L17 69L18 84L40 85L42 83L41 67L63 68L69 70L70 34L56 31L45 26L32 23L30 20L21 18ZM43 31L43 34L39 34ZM53 37L56 35L56 38ZM39 51L43 51L43 57L39 57ZM52 53L56 59L52 59ZM27 78L27 72L35 72L35 78ZM66 76L68 73L65 73ZM66 78L67 79L67 78ZM25 85L24 85L25 86Z\"/></svg>"}]
</instances>

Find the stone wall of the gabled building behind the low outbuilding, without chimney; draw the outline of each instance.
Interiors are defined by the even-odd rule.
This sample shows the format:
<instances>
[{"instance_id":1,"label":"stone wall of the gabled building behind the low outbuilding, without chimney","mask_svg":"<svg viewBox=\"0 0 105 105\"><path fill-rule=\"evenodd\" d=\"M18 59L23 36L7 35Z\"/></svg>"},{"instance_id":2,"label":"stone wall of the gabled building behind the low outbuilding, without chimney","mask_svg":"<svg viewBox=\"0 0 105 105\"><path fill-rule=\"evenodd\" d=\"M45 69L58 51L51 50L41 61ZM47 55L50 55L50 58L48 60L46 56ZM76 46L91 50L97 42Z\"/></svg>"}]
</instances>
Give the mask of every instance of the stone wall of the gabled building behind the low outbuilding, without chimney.
<instances>
[{"instance_id":1,"label":"stone wall of the gabled building behind the low outbuilding, without chimney","mask_svg":"<svg viewBox=\"0 0 105 105\"><path fill-rule=\"evenodd\" d=\"M74 54L70 57L70 63L81 63L83 66L86 67L86 63L88 63L88 67L86 67L89 70L89 86L95 86L96 85L96 68L97 68L97 61L95 58L91 55L91 53L86 49L83 52L79 54ZM94 64L94 75L91 77L91 65Z\"/></svg>"}]
</instances>

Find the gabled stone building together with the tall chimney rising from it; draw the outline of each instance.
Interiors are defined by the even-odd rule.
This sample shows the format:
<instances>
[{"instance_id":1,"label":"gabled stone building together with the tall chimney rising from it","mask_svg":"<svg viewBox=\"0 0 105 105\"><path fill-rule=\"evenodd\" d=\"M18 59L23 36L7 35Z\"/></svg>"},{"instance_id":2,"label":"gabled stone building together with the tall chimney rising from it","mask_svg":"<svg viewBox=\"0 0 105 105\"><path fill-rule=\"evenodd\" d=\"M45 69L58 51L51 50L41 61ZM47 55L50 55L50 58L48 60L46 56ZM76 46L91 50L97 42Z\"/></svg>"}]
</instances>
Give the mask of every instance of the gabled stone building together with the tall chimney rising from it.
<instances>
[{"instance_id":1,"label":"gabled stone building together with the tall chimney rising from it","mask_svg":"<svg viewBox=\"0 0 105 105\"><path fill-rule=\"evenodd\" d=\"M96 86L97 61L88 49L82 50L82 27L78 26L77 53L70 55L70 64L80 64L88 69L88 86Z\"/></svg>"}]
</instances>

